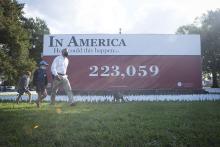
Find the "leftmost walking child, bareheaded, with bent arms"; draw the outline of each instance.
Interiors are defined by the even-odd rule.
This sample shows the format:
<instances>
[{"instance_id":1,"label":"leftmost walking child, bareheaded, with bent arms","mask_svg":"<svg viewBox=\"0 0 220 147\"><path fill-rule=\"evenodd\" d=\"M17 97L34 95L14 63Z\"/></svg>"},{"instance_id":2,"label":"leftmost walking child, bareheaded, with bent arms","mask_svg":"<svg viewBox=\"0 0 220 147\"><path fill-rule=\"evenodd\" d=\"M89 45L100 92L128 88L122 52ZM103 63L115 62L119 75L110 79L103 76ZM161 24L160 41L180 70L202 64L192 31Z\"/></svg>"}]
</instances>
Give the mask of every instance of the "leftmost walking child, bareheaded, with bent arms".
<instances>
[{"instance_id":1,"label":"leftmost walking child, bareheaded, with bent arms","mask_svg":"<svg viewBox=\"0 0 220 147\"><path fill-rule=\"evenodd\" d=\"M27 93L29 96L28 102L31 103L31 93L29 91L28 85L30 83L30 77L31 77L31 72L27 71L22 75L22 77L19 79L18 83L18 97L16 98L16 103L19 103L19 100L21 96L24 93Z\"/></svg>"}]
</instances>

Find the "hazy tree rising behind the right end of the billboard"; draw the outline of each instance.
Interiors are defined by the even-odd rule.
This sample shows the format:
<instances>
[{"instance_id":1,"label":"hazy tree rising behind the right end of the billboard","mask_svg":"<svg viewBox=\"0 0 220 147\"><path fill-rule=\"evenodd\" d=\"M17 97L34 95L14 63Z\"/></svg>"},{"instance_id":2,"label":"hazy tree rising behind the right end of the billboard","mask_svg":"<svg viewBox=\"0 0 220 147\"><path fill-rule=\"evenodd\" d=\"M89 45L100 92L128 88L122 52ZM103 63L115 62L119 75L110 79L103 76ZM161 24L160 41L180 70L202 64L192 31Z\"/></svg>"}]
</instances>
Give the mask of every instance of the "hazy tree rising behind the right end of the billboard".
<instances>
[{"instance_id":1,"label":"hazy tree rising behind the right end of the billboard","mask_svg":"<svg viewBox=\"0 0 220 147\"><path fill-rule=\"evenodd\" d=\"M200 34L203 72L212 73L212 87L219 87L217 75L220 73L220 9L208 11L193 24L179 27L177 34Z\"/></svg>"}]
</instances>

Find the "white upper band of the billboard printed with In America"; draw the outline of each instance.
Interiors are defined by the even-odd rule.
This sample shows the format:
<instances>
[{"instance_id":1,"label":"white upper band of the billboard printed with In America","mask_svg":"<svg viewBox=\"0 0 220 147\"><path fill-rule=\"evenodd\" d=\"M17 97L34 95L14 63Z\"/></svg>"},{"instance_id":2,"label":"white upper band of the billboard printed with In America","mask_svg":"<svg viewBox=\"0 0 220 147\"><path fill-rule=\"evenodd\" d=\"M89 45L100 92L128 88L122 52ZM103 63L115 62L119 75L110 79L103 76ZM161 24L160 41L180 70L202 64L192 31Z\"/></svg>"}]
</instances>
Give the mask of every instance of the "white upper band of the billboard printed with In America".
<instances>
[{"instance_id":1,"label":"white upper band of the billboard printed with In America","mask_svg":"<svg viewBox=\"0 0 220 147\"><path fill-rule=\"evenodd\" d=\"M43 56L60 55L63 48L70 55L201 55L199 35L44 35Z\"/></svg>"}]
</instances>

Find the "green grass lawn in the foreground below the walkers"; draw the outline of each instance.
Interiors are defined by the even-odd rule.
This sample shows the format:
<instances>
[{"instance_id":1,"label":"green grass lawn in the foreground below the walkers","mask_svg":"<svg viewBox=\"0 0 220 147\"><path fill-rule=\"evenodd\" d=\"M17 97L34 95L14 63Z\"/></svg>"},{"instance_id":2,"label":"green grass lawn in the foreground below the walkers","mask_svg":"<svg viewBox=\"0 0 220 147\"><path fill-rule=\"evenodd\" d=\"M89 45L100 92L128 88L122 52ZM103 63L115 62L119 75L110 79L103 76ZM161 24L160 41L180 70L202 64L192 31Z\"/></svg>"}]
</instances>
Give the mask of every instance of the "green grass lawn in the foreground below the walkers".
<instances>
[{"instance_id":1,"label":"green grass lawn in the foreground below the walkers","mask_svg":"<svg viewBox=\"0 0 220 147\"><path fill-rule=\"evenodd\" d=\"M0 146L220 146L220 101L2 102Z\"/></svg>"}]
</instances>

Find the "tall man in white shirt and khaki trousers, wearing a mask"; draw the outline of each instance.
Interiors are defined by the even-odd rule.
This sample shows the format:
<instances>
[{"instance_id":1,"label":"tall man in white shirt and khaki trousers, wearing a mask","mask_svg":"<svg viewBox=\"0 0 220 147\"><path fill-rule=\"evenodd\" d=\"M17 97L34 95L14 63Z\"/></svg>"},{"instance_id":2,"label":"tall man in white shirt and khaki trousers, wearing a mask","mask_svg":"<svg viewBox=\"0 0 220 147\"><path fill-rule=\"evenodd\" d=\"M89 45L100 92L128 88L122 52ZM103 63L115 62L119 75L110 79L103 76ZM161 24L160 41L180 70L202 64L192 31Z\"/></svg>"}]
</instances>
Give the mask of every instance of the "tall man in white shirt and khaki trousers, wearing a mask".
<instances>
[{"instance_id":1,"label":"tall man in white shirt and khaki trousers, wearing a mask","mask_svg":"<svg viewBox=\"0 0 220 147\"><path fill-rule=\"evenodd\" d=\"M55 104L55 97L60 86L63 86L69 98L70 106L76 103L73 101L73 94L70 82L67 78L66 71L69 64L68 49L62 50L62 55L57 56L51 65L51 72L53 76L52 91L51 91L51 104Z\"/></svg>"}]
</instances>

